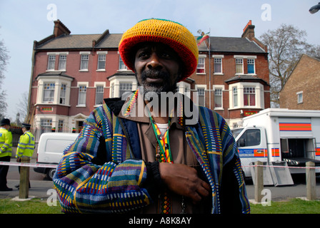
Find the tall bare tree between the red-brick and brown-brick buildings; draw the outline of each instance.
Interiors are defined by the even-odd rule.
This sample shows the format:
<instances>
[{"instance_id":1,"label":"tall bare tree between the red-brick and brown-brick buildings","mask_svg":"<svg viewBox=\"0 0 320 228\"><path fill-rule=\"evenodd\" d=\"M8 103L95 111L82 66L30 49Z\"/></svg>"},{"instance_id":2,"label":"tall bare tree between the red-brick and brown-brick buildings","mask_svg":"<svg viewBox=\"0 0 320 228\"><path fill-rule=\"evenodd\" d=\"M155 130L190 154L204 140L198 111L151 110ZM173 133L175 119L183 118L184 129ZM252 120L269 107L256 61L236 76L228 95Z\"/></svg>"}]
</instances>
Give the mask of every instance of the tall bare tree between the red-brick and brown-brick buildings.
<instances>
[{"instance_id":1,"label":"tall bare tree between the red-brick and brown-brick buildings","mask_svg":"<svg viewBox=\"0 0 320 228\"><path fill-rule=\"evenodd\" d=\"M268 46L269 51L271 107L279 108L279 92L301 55L306 53L310 56L320 56L320 46L307 43L306 35L306 31L281 24L279 28L268 30L259 38Z\"/></svg>"}]
</instances>

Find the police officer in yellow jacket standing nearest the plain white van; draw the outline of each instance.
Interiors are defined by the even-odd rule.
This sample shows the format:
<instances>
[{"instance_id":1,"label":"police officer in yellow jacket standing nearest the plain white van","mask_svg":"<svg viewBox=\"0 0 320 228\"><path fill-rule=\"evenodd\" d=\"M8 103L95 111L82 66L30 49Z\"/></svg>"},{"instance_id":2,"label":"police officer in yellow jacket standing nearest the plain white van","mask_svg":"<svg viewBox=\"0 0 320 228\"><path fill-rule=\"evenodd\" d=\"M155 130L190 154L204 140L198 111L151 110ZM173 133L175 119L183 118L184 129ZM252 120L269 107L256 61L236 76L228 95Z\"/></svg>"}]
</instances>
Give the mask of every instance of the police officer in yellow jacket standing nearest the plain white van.
<instances>
[{"instance_id":1,"label":"police officer in yellow jacket standing nearest the plain white van","mask_svg":"<svg viewBox=\"0 0 320 228\"><path fill-rule=\"evenodd\" d=\"M28 123L22 123L22 132L24 134L19 138L18 148L16 150L16 162L21 162L21 157L26 157L31 160L31 157L34 154L34 135L32 135L32 133L30 132L30 128L31 125L29 125ZM15 187L19 188L19 186L20 185L16 185Z\"/></svg>"}]
</instances>

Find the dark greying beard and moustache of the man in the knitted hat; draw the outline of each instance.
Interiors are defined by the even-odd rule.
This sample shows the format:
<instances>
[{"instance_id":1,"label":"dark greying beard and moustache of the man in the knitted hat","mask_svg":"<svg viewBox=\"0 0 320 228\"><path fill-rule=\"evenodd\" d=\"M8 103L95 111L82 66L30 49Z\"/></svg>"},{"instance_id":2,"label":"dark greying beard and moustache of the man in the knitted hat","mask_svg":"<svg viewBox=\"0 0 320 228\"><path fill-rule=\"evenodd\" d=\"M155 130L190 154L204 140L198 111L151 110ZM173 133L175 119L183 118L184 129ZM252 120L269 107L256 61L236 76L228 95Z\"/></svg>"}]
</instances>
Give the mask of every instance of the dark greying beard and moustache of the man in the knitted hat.
<instances>
[{"instance_id":1,"label":"dark greying beard and moustache of the man in the knitted hat","mask_svg":"<svg viewBox=\"0 0 320 228\"><path fill-rule=\"evenodd\" d=\"M137 77L137 76L136 76ZM146 81L147 78L161 78L161 82L159 83L151 83ZM171 83L169 73L163 71L157 71L154 69L143 71L141 73L141 82L139 80L138 85L144 87L144 96L148 97L148 94L154 94L161 96L163 92L176 92L178 82L178 77L174 83Z\"/></svg>"}]
</instances>

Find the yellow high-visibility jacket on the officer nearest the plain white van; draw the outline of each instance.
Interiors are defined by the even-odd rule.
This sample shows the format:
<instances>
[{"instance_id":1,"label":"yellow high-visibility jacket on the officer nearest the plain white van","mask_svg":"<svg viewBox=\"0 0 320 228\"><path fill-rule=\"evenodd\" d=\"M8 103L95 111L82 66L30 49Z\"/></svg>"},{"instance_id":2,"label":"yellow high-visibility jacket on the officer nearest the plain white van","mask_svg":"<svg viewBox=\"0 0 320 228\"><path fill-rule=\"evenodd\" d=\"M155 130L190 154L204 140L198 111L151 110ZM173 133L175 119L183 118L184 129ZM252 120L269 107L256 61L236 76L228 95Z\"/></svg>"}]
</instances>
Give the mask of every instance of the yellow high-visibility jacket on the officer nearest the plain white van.
<instances>
[{"instance_id":1,"label":"yellow high-visibility jacket on the officer nearest the plain white van","mask_svg":"<svg viewBox=\"0 0 320 228\"><path fill-rule=\"evenodd\" d=\"M16 157L32 157L34 153L34 135L26 131L20 136L18 148L16 149Z\"/></svg>"}]
</instances>

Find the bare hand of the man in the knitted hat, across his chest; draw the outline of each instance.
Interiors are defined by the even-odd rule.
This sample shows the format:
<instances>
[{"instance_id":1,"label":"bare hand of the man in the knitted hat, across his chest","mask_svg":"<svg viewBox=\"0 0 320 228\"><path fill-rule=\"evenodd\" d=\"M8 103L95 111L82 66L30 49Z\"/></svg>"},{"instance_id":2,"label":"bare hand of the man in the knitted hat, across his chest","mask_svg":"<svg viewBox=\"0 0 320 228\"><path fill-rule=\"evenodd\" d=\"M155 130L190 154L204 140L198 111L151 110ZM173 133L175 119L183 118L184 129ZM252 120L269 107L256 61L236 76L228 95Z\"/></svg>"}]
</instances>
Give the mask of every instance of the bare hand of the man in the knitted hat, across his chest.
<instances>
[{"instance_id":1,"label":"bare hand of the man in the knitted hat, across his chest","mask_svg":"<svg viewBox=\"0 0 320 228\"><path fill-rule=\"evenodd\" d=\"M211 187L198 177L196 170L187 165L160 162L159 172L169 190L191 198L194 203L207 197L211 191Z\"/></svg>"}]
</instances>

